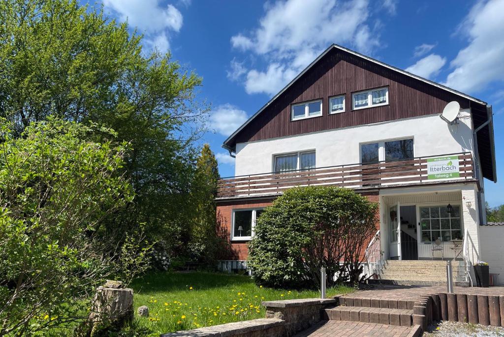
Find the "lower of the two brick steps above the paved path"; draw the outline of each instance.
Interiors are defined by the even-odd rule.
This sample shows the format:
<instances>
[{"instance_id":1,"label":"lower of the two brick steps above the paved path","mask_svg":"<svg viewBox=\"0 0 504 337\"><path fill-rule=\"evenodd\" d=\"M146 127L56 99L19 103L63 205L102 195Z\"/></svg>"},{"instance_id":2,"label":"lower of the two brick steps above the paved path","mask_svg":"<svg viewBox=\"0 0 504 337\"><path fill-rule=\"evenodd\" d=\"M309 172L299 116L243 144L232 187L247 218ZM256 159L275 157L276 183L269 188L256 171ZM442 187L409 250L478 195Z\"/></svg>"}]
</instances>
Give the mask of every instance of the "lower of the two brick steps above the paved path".
<instances>
[{"instance_id":1,"label":"lower of the two brick steps above the paved path","mask_svg":"<svg viewBox=\"0 0 504 337\"><path fill-rule=\"evenodd\" d=\"M335 321L412 326L413 310L338 306L325 309L325 318Z\"/></svg>"}]
</instances>

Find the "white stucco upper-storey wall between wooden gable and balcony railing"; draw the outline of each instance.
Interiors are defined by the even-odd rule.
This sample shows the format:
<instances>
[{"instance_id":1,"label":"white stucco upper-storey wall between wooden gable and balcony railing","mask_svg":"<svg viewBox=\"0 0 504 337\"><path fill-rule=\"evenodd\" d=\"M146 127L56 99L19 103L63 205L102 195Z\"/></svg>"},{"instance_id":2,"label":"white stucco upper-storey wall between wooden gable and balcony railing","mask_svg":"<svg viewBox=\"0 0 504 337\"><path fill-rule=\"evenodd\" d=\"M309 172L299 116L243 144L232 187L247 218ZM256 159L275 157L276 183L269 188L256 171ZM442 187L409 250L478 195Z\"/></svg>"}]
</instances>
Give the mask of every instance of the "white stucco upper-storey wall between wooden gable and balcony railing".
<instances>
[{"instance_id":1,"label":"white stucco upper-storey wall between wooden gable and balcony railing","mask_svg":"<svg viewBox=\"0 0 504 337\"><path fill-rule=\"evenodd\" d=\"M316 150L317 167L356 164L360 162L359 144L410 137L413 137L415 157L472 151L470 113L466 110L461 115L459 124L452 126L433 114L238 143L235 175L271 172L274 155L306 150Z\"/></svg>"}]
</instances>

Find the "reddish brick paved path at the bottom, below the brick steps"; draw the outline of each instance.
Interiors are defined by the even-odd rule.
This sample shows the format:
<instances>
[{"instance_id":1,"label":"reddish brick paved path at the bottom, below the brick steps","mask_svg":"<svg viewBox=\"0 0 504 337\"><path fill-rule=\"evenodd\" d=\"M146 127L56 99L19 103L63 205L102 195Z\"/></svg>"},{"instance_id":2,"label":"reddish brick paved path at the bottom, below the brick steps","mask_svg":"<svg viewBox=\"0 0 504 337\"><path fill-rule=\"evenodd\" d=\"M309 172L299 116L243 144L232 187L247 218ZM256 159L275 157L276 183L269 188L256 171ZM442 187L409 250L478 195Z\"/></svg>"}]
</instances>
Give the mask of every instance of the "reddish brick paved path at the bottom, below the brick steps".
<instances>
[{"instance_id":1,"label":"reddish brick paved path at the bottom, below the brick steps","mask_svg":"<svg viewBox=\"0 0 504 337\"><path fill-rule=\"evenodd\" d=\"M313 326L309 330L296 334L295 337L408 337L419 335L419 325L393 326L375 323L326 321Z\"/></svg>"}]
</instances>

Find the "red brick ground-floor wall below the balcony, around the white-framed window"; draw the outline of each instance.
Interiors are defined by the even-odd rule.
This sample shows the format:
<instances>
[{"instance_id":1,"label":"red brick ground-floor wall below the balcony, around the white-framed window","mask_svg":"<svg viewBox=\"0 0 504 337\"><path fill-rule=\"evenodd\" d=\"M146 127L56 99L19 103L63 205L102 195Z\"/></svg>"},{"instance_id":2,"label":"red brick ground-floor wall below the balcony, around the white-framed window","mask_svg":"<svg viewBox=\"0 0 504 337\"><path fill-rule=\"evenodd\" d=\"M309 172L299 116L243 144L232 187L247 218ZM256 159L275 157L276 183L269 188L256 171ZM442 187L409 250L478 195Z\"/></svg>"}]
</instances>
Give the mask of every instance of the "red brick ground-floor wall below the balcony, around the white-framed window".
<instances>
[{"instance_id":1,"label":"red brick ground-floor wall below the balcony, around the white-framed window","mask_svg":"<svg viewBox=\"0 0 504 337\"><path fill-rule=\"evenodd\" d=\"M377 203L379 193L377 191L364 192L361 195L366 196L369 201ZM232 211L238 209L268 207L272 204L274 198L255 199L255 200L236 200L219 201L217 204L217 235L225 243L222 250L221 260L246 260L248 256L248 241L231 241L231 221ZM380 221L376 223L376 230L380 228Z\"/></svg>"}]
</instances>

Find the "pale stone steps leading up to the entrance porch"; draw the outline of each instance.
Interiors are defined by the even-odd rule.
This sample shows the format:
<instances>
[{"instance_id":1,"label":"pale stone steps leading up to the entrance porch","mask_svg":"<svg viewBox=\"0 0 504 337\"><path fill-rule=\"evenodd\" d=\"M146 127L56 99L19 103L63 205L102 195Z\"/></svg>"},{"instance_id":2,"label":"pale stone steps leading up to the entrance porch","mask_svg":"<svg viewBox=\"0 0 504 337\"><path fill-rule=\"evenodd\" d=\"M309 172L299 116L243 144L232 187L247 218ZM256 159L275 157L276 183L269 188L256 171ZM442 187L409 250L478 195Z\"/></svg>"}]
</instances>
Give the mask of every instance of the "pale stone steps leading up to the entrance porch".
<instances>
[{"instance_id":1,"label":"pale stone steps leading up to the entrance porch","mask_svg":"<svg viewBox=\"0 0 504 337\"><path fill-rule=\"evenodd\" d=\"M447 261L386 260L380 264L369 284L446 285ZM468 287L463 261L452 261L454 285Z\"/></svg>"}]
</instances>

